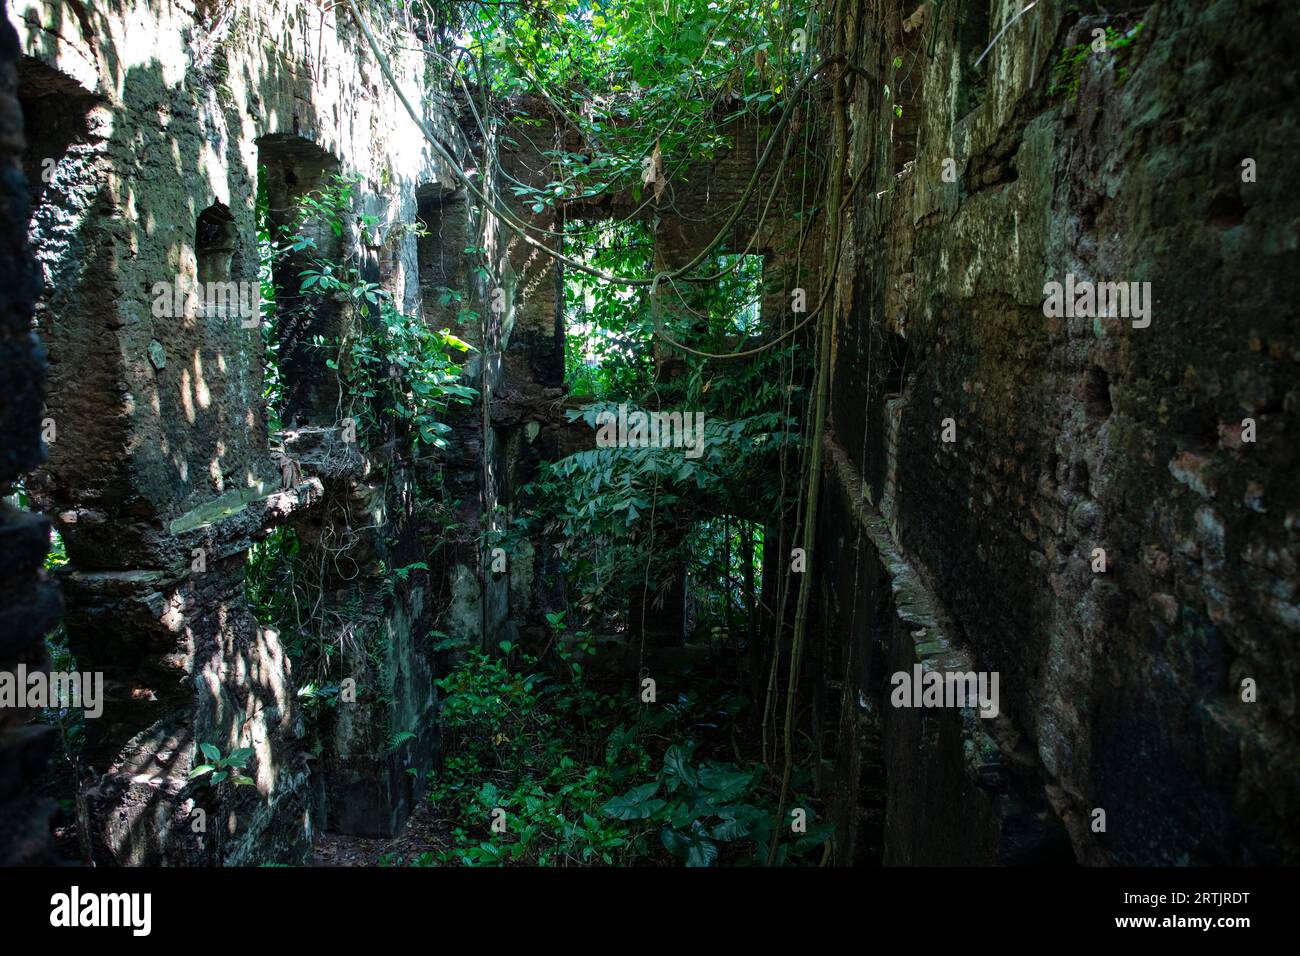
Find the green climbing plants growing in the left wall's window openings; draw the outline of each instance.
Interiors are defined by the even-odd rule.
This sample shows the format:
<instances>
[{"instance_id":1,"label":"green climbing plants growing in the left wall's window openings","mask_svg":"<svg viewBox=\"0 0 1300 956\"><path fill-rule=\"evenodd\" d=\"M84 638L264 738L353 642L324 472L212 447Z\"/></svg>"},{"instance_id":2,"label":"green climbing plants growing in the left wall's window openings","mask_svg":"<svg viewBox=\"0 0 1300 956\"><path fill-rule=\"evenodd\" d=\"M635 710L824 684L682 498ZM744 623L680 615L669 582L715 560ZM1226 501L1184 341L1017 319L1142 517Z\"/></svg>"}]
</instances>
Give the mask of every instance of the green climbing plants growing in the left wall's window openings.
<instances>
[{"instance_id":1,"label":"green climbing plants growing in the left wall's window openings","mask_svg":"<svg viewBox=\"0 0 1300 956\"><path fill-rule=\"evenodd\" d=\"M321 362L339 378L342 403L339 419L354 419L360 446L370 453L373 466L382 471L394 462L421 457L426 449L446 444L451 431L445 420L452 406L467 405L477 394L464 384L463 368L452 358L472 346L448 329L436 330L420 319L396 308L393 295L361 273L355 250L360 245L394 242L422 226L393 224L381 235L376 216L358 212L361 198L358 182L334 177L322 189L299 196L287 224L272 221L266 176L259 176L257 246L259 277L263 289L265 345L265 392L272 431L281 421L282 378L278 367L280 299L296 299L295 308L339 310L341 334L312 342ZM344 250L339 252L338 250ZM285 276L296 278L296 289L277 287ZM410 518L424 533L447 529L454 503L441 501L445 489L439 473L411 470L416 494ZM248 553L246 593L257 619L276 628L298 674L308 675L311 692L302 693L308 711L317 704L333 706L337 692L329 675L332 662L343 649L364 645L377 666L382 665L374 633L363 633L358 622L373 613L373 596L367 594L356 574L351 550L358 533L348 512L321 525L309 548L300 548L290 527L274 529ZM437 541L428 541L430 551ZM415 562L385 575L378 598L393 594L395 584L413 570L428 570ZM342 593L342 600L324 601L326 589Z\"/></svg>"}]
</instances>

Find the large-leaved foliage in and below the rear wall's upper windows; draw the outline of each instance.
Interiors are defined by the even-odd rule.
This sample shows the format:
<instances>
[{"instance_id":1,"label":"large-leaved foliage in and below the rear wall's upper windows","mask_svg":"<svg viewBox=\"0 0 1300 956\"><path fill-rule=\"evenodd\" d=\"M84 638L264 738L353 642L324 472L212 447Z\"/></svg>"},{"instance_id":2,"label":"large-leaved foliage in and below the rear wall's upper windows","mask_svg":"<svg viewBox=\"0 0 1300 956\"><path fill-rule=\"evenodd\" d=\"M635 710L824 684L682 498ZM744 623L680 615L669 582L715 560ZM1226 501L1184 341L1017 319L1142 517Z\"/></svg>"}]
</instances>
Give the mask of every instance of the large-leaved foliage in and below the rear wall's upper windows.
<instances>
[{"instance_id":1,"label":"large-leaved foliage in and below the rear wall's upper windows","mask_svg":"<svg viewBox=\"0 0 1300 956\"><path fill-rule=\"evenodd\" d=\"M595 235L594 247L584 246ZM650 234L640 224L604 222L567 237L566 250L602 269L642 272L650 263ZM759 332L766 281L763 260L722 254L703 285L667 282L659 290L666 326L703 350L729 351ZM705 416L706 450L686 458L681 449L597 447L543 463L523 489L512 536L549 537L558 568L584 619L597 626L627 613L636 587L670 581L692 548L681 535L719 511L776 514L780 457L793 449L802 388L792 378L800 345L734 363L688 356L684 373L663 380L655 367L649 291L611 286L566 272L567 376L571 389L592 399L571 420L595 427L601 411L693 411ZM656 533L656 529L660 529ZM677 542L673 545L673 542ZM748 602L751 605L753 602ZM716 623L716 622L714 622Z\"/></svg>"}]
</instances>

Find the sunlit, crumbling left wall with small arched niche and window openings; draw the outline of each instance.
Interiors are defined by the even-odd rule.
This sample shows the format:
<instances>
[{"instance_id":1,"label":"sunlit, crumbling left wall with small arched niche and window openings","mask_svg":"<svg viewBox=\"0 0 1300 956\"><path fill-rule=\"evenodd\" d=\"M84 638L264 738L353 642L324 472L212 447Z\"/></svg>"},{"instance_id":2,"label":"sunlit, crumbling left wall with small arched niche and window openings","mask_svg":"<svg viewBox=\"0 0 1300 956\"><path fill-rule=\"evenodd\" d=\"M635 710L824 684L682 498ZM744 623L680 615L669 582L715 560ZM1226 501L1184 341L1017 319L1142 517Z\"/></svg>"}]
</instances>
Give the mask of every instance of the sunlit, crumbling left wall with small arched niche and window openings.
<instances>
[{"instance_id":1,"label":"sunlit, crumbling left wall with small arched niche and window openings","mask_svg":"<svg viewBox=\"0 0 1300 956\"><path fill-rule=\"evenodd\" d=\"M240 294L251 287L256 310L259 166L273 222L338 172L360 181L373 233L399 237L374 246L358 232L337 237L339 247L358 251L399 308L422 313L417 241L398 226L415 224L419 196L450 189L451 173L346 12L17 0L9 16L34 129L23 163L43 286L36 324L51 354L46 414L57 428L34 485L68 545L70 646L82 670L107 679L104 715L87 727L86 855L300 862L313 821L391 832L415 800L407 769L421 775L436 745L424 637L437 596L421 575L395 589L384 580L385 567L421 557L415 466L387 462L381 476L347 445L333 373L308 350L337 319L295 311L296 277L276 277L292 412L276 436L256 313L160 310L159 289L230 281ZM421 55L394 57L406 87L436 88ZM419 101L455 143L438 96ZM35 412L22 412L30 429ZM300 459L300 483L282 486L273 444ZM304 549L333 555L342 541L352 562L321 609L346 650L329 678L354 678L359 704L320 741L307 739L296 700L308 675L292 672L244 596L250 546L286 523ZM424 730L400 737L412 728ZM202 743L224 754L252 748L255 786L188 783Z\"/></svg>"}]
</instances>

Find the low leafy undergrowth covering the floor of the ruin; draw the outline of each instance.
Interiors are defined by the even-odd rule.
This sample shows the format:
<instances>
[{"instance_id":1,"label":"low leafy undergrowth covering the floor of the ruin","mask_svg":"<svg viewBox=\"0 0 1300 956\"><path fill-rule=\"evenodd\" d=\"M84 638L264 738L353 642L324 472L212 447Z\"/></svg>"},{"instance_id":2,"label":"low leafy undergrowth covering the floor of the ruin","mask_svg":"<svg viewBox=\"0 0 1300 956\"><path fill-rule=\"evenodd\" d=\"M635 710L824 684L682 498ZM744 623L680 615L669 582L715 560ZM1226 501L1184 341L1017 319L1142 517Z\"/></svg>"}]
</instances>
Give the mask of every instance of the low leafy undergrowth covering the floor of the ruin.
<instances>
[{"instance_id":1,"label":"low leafy undergrowth covering the floor of the ruin","mask_svg":"<svg viewBox=\"0 0 1300 956\"><path fill-rule=\"evenodd\" d=\"M472 652L438 682L447 756L429 799L454 845L412 862L766 864L775 796L762 766L697 756L697 732L742 713L741 700L703 678L646 709L595 689L582 669L590 639L571 637L547 661L506 643L507 657ZM494 831L500 810L504 831ZM779 862L807 862L827 836L810 826L781 844Z\"/></svg>"}]
</instances>

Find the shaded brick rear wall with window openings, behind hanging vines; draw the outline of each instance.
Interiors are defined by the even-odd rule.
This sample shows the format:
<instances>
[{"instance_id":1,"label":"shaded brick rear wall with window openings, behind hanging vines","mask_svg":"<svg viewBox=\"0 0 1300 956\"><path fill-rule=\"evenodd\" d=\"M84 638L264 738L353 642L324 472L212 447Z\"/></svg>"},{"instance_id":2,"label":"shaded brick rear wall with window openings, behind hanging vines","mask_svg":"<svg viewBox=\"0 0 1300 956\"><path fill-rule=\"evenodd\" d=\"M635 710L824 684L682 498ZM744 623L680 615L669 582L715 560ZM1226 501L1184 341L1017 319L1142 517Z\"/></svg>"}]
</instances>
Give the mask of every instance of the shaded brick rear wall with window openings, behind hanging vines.
<instances>
[{"instance_id":1,"label":"shaded brick rear wall with window openings, behind hanging vines","mask_svg":"<svg viewBox=\"0 0 1300 956\"><path fill-rule=\"evenodd\" d=\"M792 311L796 287L806 289L811 307L820 276L820 230L818 224L807 229L801 248L803 222L797 213L801 196L815 189L812 181L818 174L807 161L811 155L807 147L815 144L816 135L811 127L796 125L786 130L757 177L755 168L774 131L775 113L760 121L746 117L729 124L723 131L724 143L712 157L684 168L670 164L659 172L659 189L647 182L640 191L607 191L534 213L514 196L512 181L543 187L551 182L552 170L540 151L576 152L584 147L577 134L556 120L545 103L524 98L510 103L507 112L511 111L526 118L528 137L526 143L512 137L494 152L499 163L497 187L517 217L537 230L551 230L534 233L536 239L559 248L560 241L554 233L566 222L636 220L653 235L653 269L668 272L696 259L722 233L714 255L763 258L762 330L755 341L788 329L802 317ZM724 229L742 199L745 203L734 221ZM495 464L485 479L485 497L494 509L499 507L499 512L493 512L500 515L495 527L502 528L515 516L517 489L532 480L538 463L592 447L594 433L585 424L575 425L566 418L566 412L584 405L580 398L568 395L564 381L564 273L571 267L540 252L495 222L495 217L490 220L491 234L499 243L494 248L502 256L494 274L499 276L508 307L497 319L490 312L486 315L489 326L498 332L485 355L488 368L493 369L485 380L485 394L490 395L485 446L495 449L489 453L489 460ZM653 276L650 269L642 273L644 278ZM680 282L677 289L689 290L689 284ZM670 282L660 285L658 295L664 310L682 308L682 299ZM654 352L660 375L672 376L680 369L681 354L672 347L656 341ZM767 522L772 515L751 518ZM670 536L681 532L684 529L660 529ZM549 563L552 553L543 541L524 541L508 555L506 575L491 574L484 563L488 633L502 630L514 640L523 631L545 641L543 613L564 606L563 584L558 583L559 575ZM671 600L646 601L644 594L633 594L629 619L636 627L645 619L647 630L655 630L659 637L672 640L676 635L680 641L684 597L677 593ZM495 646L495 640L490 646Z\"/></svg>"}]
</instances>

